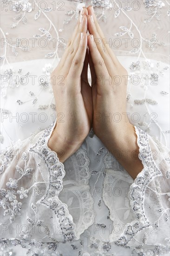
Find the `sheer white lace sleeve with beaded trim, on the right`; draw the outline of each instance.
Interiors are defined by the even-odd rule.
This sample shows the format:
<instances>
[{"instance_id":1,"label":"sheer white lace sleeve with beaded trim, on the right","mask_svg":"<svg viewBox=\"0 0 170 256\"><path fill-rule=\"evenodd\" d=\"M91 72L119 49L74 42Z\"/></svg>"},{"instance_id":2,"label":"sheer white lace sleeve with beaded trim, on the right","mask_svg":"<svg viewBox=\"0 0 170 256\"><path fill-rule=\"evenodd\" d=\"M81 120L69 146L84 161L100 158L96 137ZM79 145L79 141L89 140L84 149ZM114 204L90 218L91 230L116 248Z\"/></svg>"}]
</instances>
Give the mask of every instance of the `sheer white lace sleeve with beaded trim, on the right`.
<instances>
[{"instance_id":1,"label":"sheer white lace sleeve with beaded trim, on the right","mask_svg":"<svg viewBox=\"0 0 170 256\"><path fill-rule=\"evenodd\" d=\"M138 127L135 130L143 170L133 180L125 170L106 169L103 198L117 227L110 238L136 253L142 248L160 255L167 252L170 242L169 150L156 137Z\"/></svg>"}]
</instances>

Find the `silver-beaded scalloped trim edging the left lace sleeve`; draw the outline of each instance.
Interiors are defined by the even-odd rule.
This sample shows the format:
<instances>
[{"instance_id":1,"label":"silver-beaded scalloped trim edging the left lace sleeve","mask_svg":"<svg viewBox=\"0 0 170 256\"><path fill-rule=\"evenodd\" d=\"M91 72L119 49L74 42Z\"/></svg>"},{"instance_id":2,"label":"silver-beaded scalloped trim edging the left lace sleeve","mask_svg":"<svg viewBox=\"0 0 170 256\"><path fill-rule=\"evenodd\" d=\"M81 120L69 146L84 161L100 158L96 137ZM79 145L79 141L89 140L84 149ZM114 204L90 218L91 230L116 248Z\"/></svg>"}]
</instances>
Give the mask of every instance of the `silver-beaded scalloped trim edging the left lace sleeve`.
<instances>
[{"instance_id":1,"label":"silver-beaded scalloped trim edging the left lace sleeve","mask_svg":"<svg viewBox=\"0 0 170 256\"><path fill-rule=\"evenodd\" d=\"M52 126L53 125L54 124L52 124ZM45 130L43 136L39 139L35 146L30 149L30 152L38 154L39 157L43 159L49 172L49 184L46 188L46 193L37 203L43 204L47 208L52 209L52 211L59 220L59 227L64 241L71 242L75 238L75 224L72 222L72 216L68 212L67 205L62 203L59 199L52 199L51 202L49 202L48 200L48 197L50 197L50 195L52 195L54 191L55 196L59 195L60 191L63 189L62 179L65 176L64 165L59 162L57 154L47 147L47 140L50 133L52 132L52 126L48 127ZM85 192L85 195L82 196L83 198L86 198L90 195ZM91 209L89 209L89 214L91 215L92 221L92 219L94 218L94 213ZM83 229L83 225L81 229Z\"/></svg>"}]
</instances>

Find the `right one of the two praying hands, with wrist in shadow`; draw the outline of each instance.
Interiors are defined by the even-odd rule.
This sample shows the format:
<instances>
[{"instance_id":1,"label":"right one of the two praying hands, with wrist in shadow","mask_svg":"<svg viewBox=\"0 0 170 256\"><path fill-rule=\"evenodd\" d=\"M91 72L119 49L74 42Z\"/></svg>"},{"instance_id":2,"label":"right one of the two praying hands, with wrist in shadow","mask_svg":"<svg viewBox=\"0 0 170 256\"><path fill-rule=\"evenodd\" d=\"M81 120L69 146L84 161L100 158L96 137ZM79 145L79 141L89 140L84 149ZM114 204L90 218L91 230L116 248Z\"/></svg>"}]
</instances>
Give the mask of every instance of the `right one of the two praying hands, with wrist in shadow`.
<instances>
[{"instance_id":1,"label":"right one of the two praying hands, with wrist in shadow","mask_svg":"<svg viewBox=\"0 0 170 256\"><path fill-rule=\"evenodd\" d=\"M88 7L88 13L93 129L106 148L135 178L143 165L138 158L135 128L129 122L126 113L128 73L106 44L107 40L92 7Z\"/></svg>"}]
</instances>

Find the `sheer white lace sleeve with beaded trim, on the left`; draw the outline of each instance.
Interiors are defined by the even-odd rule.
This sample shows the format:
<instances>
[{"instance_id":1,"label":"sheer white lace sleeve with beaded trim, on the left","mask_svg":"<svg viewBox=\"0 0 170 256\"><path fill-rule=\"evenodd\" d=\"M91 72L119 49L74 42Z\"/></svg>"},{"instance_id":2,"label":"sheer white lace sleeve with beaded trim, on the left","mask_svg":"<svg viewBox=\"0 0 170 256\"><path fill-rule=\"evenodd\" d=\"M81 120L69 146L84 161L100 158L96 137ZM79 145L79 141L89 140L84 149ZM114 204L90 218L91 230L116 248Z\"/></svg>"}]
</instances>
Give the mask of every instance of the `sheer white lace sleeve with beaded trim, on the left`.
<instances>
[{"instance_id":1,"label":"sheer white lace sleeve with beaded trim, on the left","mask_svg":"<svg viewBox=\"0 0 170 256\"><path fill-rule=\"evenodd\" d=\"M59 162L47 144L55 123L36 135L33 145L26 139L22 148L9 148L2 154L3 238L71 242L92 225L89 159L79 148L64 164Z\"/></svg>"}]
</instances>

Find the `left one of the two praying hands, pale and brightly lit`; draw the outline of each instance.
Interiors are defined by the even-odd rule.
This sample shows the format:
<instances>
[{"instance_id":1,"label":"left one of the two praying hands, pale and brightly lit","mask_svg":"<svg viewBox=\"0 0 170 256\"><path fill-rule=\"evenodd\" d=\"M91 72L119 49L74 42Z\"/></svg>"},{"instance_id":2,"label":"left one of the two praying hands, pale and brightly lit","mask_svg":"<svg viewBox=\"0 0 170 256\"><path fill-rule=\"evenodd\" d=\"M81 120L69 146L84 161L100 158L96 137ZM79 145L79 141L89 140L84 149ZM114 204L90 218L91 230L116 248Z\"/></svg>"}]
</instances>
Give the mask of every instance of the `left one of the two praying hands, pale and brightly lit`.
<instances>
[{"instance_id":1,"label":"left one of the two praying hands, pale and brightly lit","mask_svg":"<svg viewBox=\"0 0 170 256\"><path fill-rule=\"evenodd\" d=\"M65 53L51 75L57 113L56 124L48 141L60 162L76 152L92 125L92 90L88 83L87 9L78 19Z\"/></svg>"}]
</instances>

